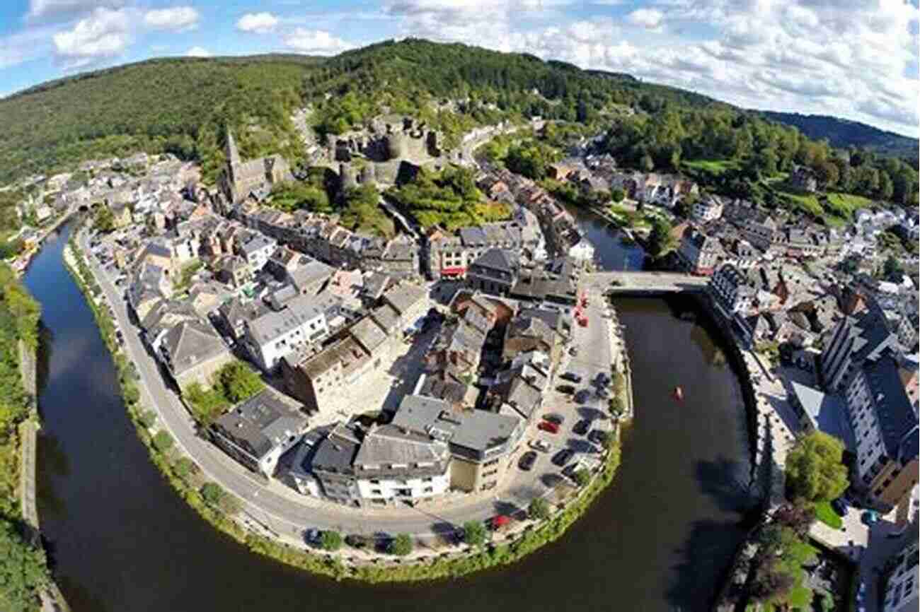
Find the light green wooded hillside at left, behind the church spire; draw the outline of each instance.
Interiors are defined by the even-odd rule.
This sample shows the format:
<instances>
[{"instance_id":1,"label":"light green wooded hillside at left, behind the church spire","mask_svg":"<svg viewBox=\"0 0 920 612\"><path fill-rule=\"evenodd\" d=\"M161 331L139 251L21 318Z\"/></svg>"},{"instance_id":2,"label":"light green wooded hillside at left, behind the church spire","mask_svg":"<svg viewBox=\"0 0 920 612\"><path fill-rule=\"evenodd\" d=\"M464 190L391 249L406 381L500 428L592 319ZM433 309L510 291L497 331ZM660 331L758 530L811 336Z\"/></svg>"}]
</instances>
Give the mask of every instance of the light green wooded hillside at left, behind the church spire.
<instances>
[{"instance_id":1,"label":"light green wooded hillside at left, behind the church spire","mask_svg":"<svg viewBox=\"0 0 920 612\"><path fill-rule=\"evenodd\" d=\"M288 115L316 61L288 56L151 60L80 74L0 100L0 184L75 162L144 149L213 157L224 121L258 121L244 154L287 148Z\"/></svg>"}]
</instances>

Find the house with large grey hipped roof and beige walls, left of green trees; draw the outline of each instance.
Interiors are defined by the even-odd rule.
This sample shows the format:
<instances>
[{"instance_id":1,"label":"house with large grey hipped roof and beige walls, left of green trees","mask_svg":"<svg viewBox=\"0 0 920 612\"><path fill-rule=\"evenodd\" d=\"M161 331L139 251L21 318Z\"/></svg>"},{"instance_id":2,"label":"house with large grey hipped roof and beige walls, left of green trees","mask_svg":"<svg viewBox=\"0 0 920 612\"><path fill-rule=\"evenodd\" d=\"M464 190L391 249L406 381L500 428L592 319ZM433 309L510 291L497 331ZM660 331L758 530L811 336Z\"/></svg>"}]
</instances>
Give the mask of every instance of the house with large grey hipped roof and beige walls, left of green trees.
<instances>
[{"instance_id":1,"label":"house with large grey hipped roof and beige walls, left of green trees","mask_svg":"<svg viewBox=\"0 0 920 612\"><path fill-rule=\"evenodd\" d=\"M213 325L203 321L183 321L170 329L157 357L179 389L195 382L210 387L217 370L234 359Z\"/></svg>"}]
</instances>

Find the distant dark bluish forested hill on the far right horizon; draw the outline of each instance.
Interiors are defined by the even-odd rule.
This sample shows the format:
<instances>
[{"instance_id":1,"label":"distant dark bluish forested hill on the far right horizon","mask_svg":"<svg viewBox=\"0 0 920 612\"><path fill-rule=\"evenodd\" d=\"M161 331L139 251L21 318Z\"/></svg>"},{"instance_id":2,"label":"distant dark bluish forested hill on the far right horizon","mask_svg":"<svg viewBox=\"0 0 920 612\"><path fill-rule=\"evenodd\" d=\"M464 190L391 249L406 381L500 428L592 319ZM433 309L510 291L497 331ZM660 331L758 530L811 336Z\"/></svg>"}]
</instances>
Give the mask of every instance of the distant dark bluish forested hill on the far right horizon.
<instances>
[{"instance_id":1,"label":"distant dark bluish forested hill on the far right horizon","mask_svg":"<svg viewBox=\"0 0 920 612\"><path fill-rule=\"evenodd\" d=\"M916 159L917 147L920 146L920 141L915 138L902 136L893 131L879 130L858 121L838 119L827 115L800 115L799 113L777 113L769 110L760 111L760 113L767 119L799 128L800 132L811 139L826 138L832 147L855 146L906 159Z\"/></svg>"}]
</instances>

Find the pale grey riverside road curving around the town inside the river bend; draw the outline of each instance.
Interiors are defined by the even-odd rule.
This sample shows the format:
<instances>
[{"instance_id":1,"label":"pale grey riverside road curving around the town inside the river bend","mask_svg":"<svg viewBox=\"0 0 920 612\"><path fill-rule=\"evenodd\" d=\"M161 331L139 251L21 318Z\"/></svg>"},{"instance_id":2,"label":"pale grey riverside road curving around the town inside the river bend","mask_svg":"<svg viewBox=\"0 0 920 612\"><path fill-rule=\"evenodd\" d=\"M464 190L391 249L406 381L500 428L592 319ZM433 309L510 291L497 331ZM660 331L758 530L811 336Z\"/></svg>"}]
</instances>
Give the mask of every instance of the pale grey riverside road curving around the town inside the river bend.
<instances>
[{"instance_id":1,"label":"pale grey riverside road curving around the town inside the river bend","mask_svg":"<svg viewBox=\"0 0 920 612\"><path fill-rule=\"evenodd\" d=\"M89 254L86 232L81 233L79 240L84 253ZM112 284L112 279L98 266L93 256L87 256L86 259L106 300L112 306L115 323L124 334L123 348L140 375L138 386L144 405L154 408L159 423L173 436L178 448L195 460L207 478L220 483L226 491L236 495L247 515L270 527L277 536L299 543L301 534L308 527L362 535L380 532L416 536L443 534L453 531L454 527L467 520L484 520L496 514L507 514L508 504L526 507L536 495L546 493L545 472L541 469L523 472L516 465L508 470L498 493L489 496L457 493L416 508L346 509L296 493L282 482L272 480L265 484L257 480L236 461L196 434L188 411L175 392L167 388L155 359L146 351L130 323L127 305L121 299L121 290ZM602 323L606 320L601 317L598 306L601 303L600 297L592 300L589 314L592 324L587 328L579 327L575 332L576 344L582 346L584 351L575 366L583 368L586 374L599 371L599 368L604 368L604 364L609 370L610 346L608 343L604 348L604 338L608 334ZM600 405L600 401L596 403ZM570 423L566 425L567 428L571 426ZM535 431L534 424L531 428Z\"/></svg>"}]
</instances>

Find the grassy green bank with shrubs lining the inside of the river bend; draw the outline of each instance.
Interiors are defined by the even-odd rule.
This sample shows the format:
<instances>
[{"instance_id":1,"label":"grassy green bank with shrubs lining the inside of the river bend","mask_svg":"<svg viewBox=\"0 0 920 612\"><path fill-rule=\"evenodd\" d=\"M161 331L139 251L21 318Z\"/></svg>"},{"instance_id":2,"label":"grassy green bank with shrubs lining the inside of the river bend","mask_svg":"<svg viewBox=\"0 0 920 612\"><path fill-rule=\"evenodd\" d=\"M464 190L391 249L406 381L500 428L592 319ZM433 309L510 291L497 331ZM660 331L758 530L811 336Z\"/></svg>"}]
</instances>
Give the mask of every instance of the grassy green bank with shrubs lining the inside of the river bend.
<instances>
[{"instance_id":1,"label":"grassy green bank with shrubs lining the inside of the river bend","mask_svg":"<svg viewBox=\"0 0 920 612\"><path fill-rule=\"evenodd\" d=\"M364 550L351 548L335 553L312 553L304 550L305 545L297 539L287 537L279 541L263 535L274 535L268 529L257 527L256 531L249 530L253 526L246 516L224 512L216 505L209 505L204 501L201 496L202 483L200 479L195 478L194 470L190 470L190 464L194 465L190 458L178 456L178 448L172 448L171 443L166 445L157 442L162 436L158 435L155 419L151 420L144 410L141 392L137 389L136 371L125 358L121 346L115 342L115 326L106 310L104 297L100 297L105 294L101 291L91 268L86 265L76 243L78 233L77 228L71 242L64 249L63 258L77 286L84 293L86 302L96 318L100 335L113 357L119 373L121 395L140 439L157 469L179 496L213 527L245 545L249 550L336 579L351 578L380 583L456 577L513 563L546 543L558 539L614 478L619 466L618 436L612 448L605 453L604 461L593 474L592 480L579 490L574 499L555 506L551 504L552 514L546 521L525 519L516 522L506 531L494 534L493 540L484 549L445 546L443 548L447 551L417 550L401 559L368 554Z\"/></svg>"}]
</instances>

